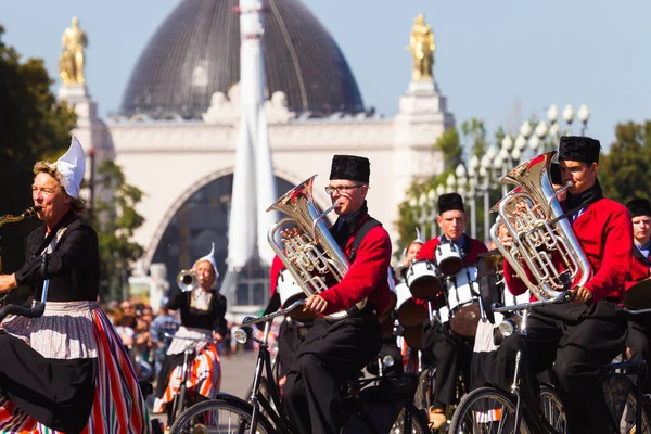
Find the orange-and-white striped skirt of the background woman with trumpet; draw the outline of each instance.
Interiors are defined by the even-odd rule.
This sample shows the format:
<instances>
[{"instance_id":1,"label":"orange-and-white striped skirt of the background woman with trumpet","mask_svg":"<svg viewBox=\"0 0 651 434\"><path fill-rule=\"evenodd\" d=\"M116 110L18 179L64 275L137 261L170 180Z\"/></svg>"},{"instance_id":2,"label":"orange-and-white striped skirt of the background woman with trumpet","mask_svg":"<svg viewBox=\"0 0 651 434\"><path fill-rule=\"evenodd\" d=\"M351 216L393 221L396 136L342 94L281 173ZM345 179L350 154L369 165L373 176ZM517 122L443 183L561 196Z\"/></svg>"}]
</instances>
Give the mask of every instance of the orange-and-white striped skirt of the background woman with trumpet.
<instances>
[{"instance_id":1,"label":"orange-and-white striped skirt of the background woman with trumpet","mask_svg":"<svg viewBox=\"0 0 651 434\"><path fill-rule=\"evenodd\" d=\"M175 341L182 341L178 336L179 334L183 334L183 330L184 328L179 329ZM189 334L193 334L192 332L189 331ZM157 385L153 407L154 413L164 412L166 405L173 401L181 387L183 354L173 350L174 348L177 348L177 346L173 342L167 352L167 359L163 363L162 375L158 378L158 383L162 384ZM200 345L195 345L195 349L196 356L191 361L190 374L186 381L186 387L188 391L193 391L208 399L213 399L217 396L221 384L221 366L217 346L213 343L201 343ZM173 366L169 366L169 363L173 363ZM169 373L167 374L167 372Z\"/></svg>"}]
</instances>

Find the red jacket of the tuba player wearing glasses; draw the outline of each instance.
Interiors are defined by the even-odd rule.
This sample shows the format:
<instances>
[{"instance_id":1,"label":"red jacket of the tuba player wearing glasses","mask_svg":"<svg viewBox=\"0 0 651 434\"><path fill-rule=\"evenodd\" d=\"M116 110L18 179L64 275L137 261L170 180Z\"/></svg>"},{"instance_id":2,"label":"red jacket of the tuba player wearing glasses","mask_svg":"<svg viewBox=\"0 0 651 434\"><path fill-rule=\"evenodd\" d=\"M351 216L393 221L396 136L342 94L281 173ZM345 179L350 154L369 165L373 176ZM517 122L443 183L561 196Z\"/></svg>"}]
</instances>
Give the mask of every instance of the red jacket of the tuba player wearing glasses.
<instances>
[{"instance_id":1,"label":"red jacket of the tuba player wearing glasses","mask_svg":"<svg viewBox=\"0 0 651 434\"><path fill-rule=\"evenodd\" d=\"M350 256L355 235L369 218L365 215L352 231L344 248L346 256ZM342 281L320 294L328 302L324 315L345 310L365 298L378 308L379 314L384 312L391 303L390 263L391 239L382 226L376 226L359 244L355 260Z\"/></svg>"}]
</instances>

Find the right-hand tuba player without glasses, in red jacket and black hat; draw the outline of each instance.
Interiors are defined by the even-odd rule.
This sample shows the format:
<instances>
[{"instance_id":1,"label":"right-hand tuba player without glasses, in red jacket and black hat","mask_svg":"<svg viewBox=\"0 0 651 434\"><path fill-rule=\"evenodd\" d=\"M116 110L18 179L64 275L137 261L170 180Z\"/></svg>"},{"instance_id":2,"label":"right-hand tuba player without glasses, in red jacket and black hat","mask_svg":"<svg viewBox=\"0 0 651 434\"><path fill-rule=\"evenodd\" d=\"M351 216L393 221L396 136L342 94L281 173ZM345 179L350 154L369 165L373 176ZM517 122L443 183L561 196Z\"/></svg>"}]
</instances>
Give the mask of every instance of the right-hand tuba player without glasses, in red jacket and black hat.
<instances>
[{"instance_id":1,"label":"right-hand tuba player without glasses, in red jacket and black hat","mask_svg":"<svg viewBox=\"0 0 651 434\"><path fill-rule=\"evenodd\" d=\"M535 374L551 367L573 434L618 432L604 401L598 371L624 347L626 320L618 303L630 279L633 225L624 205L603 197L597 179L600 149L599 141L588 137L563 136L560 140L561 175L564 183L573 181L561 205L592 275L584 286L572 289L573 303L532 309L524 361L527 374L523 378L528 386L521 387L531 391L524 393L525 399L536 406ZM524 292L526 286L508 261L503 267L509 291ZM513 379L518 340L519 335L513 334L499 348L505 387Z\"/></svg>"}]
</instances>

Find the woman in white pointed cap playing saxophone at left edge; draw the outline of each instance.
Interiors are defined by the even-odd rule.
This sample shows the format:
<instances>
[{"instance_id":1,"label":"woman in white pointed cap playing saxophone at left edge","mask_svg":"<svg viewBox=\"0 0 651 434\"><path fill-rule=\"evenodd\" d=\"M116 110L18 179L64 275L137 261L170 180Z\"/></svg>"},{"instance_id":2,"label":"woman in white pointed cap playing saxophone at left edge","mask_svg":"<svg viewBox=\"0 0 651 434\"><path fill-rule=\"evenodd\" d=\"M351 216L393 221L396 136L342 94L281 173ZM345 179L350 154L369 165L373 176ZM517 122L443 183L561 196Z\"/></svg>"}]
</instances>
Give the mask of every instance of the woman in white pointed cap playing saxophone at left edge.
<instances>
[{"instance_id":1,"label":"woman in white pointed cap playing saxophone at left edge","mask_svg":"<svg viewBox=\"0 0 651 434\"><path fill-rule=\"evenodd\" d=\"M1 324L1 432L151 431L133 368L97 304L98 235L79 216L85 166L74 137L54 164L34 166L31 197L44 225L28 234L21 269L0 275L0 292L29 285L40 299L48 280L48 297L41 317Z\"/></svg>"}]
</instances>

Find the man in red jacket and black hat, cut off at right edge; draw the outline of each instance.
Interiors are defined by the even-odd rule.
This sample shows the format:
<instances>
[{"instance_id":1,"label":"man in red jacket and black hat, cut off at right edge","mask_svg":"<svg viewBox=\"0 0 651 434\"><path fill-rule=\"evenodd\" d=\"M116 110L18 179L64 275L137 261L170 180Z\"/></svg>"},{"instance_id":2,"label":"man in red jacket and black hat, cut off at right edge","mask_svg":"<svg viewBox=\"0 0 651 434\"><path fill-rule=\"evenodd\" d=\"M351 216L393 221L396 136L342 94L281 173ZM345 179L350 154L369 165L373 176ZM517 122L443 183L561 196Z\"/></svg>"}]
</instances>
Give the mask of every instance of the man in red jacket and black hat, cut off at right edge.
<instances>
[{"instance_id":1,"label":"man in red jacket and black hat, cut off at right edge","mask_svg":"<svg viewBox=\"0 0 651 434\"><path fill-rule=\"evenodd\" d=\"M651 277L651 205L646 199L634 199L626 204L633 219L633 263L630 265L630 282L626 289ZM628 348L630 360L651 360L651 314L628 316ZM651 375L647 374L644 393L651 393Z\"/></svg>"}]
</instances>

